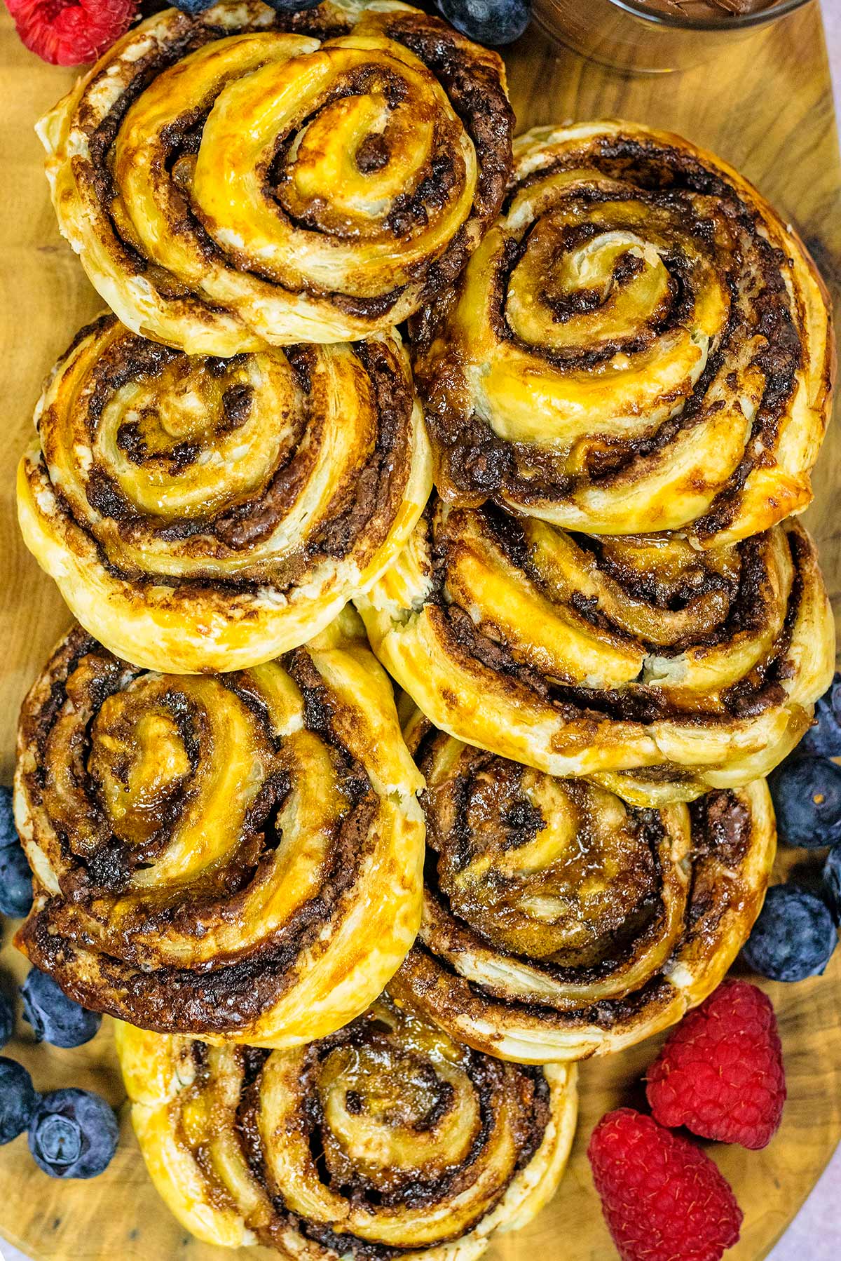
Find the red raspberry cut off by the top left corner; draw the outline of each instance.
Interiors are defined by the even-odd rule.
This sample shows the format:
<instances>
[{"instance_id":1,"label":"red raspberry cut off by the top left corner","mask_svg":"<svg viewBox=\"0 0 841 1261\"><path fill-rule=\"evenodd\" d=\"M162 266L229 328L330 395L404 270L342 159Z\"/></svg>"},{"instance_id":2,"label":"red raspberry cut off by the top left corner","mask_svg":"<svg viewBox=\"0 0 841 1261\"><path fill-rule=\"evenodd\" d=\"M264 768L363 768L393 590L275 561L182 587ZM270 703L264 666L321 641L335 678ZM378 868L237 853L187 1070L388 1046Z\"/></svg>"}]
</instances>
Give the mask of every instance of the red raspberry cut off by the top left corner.
<instances>
[{"instance_id":1,"label":"red raspberry cut off by the top left corner","mask_svg":"<svg viewBox=\"0 0 841 1261\"><path fill-rule=\"evenodd\" d=\"M21 40L53 66L93 62L119 39L137 0L6 0Z\"/></svg>"}]
</instances>

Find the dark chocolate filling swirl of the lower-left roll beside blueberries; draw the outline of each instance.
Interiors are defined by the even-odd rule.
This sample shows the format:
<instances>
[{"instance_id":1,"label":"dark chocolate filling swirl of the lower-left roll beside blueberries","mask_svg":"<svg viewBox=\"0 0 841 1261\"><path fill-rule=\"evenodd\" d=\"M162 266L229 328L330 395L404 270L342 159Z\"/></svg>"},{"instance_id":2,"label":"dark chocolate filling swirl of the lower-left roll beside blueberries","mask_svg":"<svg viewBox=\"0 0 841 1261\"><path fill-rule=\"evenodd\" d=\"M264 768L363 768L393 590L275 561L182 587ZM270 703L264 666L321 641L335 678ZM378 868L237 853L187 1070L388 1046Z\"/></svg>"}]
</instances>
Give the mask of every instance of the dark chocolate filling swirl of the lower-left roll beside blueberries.
<instances>
[{"instance_id":1,"label":"dark chocolate filling swirl of the lower-left roll beside blueberries","mask_svg":"<svg viewBox=\"0 0 841 1261\"><path fill-rule=\"evenodd\" d=\"M95 718L107 697L141 678L145 672L127 666L76 628L58 649L49 666L49 689L38 704L24 711L21 739L34 750L34 769L24 772L25 792L33 807L44 808L44 784L50 776L49 740L59 720L64 723L59 739L71 741L68 765L57 773L72 774L73 789L83 797L86 817L73 823L55 818L62 851L71 873L62 879L59 895L49 897L26 921L20 939L30 960L59 980L63 989L82 1005L141 1023L160 1031L231 1033L255 1020L285 992L294 977L294 965L323 932L324 923L342 915L342 899L358 878L368 837L378 810L377 797L364 768L349 754L335 730L332 695L322 682L304 648L289 653L284 666L300 686L305 705L305 728L328 747L337 786L345 805L340 808L329 839L325 870L319 890L295 912L281 928L267 933L260 948L219 952L194 968L169 965L149 966L149 942L155 933L166 938L169 929L199 941L219 919L242 914L243 899L261 865L284 842L277 816L291 789L290 772L282 765L282 738L272 735L261 700L248 686L248 676L218 676L265 725L261 736L275 748L276 770L269 773L246 812L242 830L226 863L200 874L193 884L178 890L135 890L121 905L119 921L103 928L101 939L91 939L86 908L95 909L103 898L119 897L131 876L154 863L166 847L171 830L190 801L192 778L197 772L203 735L203 719L177 682L158 699L158 711L171 718L187 758L187 773L171 782L169 793L146 810L144 835L131 842L116 835L103 788L92 757ZM154 677L154 676L150 676ZM68 715L76 715L76 728L68 734ZM129 721L136 721L130 714ZM130 739L127 733L125 739ZM113 743L113 741L112 741ZM211 750L212 752L212 750ZM64 757L61 749L59 757ZM110 765L116 781L127 783L129 768L119 757ZM77 908L82 915L77 914ZM79 966L79 952L96 950L98 972Z\"/></svg>"}]
</instances>

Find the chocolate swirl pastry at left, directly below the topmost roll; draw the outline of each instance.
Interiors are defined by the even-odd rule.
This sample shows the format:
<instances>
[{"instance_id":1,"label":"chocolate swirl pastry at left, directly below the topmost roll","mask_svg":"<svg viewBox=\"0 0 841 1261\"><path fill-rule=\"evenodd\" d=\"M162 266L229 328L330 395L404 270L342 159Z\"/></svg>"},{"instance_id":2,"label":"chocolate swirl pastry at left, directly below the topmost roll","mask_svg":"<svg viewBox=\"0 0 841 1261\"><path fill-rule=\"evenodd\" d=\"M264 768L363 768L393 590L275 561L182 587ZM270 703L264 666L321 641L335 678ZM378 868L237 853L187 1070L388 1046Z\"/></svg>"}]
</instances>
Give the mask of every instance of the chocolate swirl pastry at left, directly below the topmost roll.
<instances>
[{"instance_id":1,"label":"chocolate swirl pastry at left, directly below the topmost roll","mask_svg":"<svg viewBox=\"0 0 841 1261\"><path fill-rule=\"evenodd\" d=\"M35 421L26 546L91 634L170 673L304 643L391 564L431 485L396 333L219 359L103 317Z\"/></svg>"}]
</instances>

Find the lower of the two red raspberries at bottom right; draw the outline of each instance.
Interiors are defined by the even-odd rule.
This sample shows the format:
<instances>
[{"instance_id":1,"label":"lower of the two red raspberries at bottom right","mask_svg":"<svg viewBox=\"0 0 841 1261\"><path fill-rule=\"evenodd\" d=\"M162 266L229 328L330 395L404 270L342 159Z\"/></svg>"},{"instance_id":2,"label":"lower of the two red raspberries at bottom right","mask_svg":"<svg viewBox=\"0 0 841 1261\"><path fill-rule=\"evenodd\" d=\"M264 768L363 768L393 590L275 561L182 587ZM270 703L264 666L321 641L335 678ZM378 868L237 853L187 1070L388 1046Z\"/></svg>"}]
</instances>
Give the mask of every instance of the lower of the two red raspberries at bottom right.
<instances>
[{"instance_id":1,"label":"lower of the two red raspberries at bottom right","mask_svg":"<svg viewBox=\"0 0 841 1261\"><path fill-rule=\"evenodd\" d=\"M651 1116L603 1116L588 1156L623 1261L719 1261L739 1238L741 1209L710 1158Z\"/></svg>"}]
</instances>

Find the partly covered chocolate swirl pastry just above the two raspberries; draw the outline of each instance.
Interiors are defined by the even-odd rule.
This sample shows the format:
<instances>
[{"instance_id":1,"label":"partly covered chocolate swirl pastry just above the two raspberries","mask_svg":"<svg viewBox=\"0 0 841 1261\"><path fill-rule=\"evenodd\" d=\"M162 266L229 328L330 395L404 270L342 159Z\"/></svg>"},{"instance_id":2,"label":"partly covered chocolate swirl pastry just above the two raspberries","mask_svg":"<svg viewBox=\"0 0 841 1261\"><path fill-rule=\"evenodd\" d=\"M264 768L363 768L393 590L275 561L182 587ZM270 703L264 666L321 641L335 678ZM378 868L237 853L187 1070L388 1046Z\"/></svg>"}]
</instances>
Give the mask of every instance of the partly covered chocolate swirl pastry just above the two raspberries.
<instances>
[{"instance_id":1,"label":"partly covered chocolate swirl pastry just above the two raspberries","mask_svg":"<svg viewBox=\"0 0 841 1261\"><path fill-rule=\"evenodd\" d=\"M436 730L424 917L391 982L454 1038L522 1063L584 1059L675 1024L721 981L774 860L764 779L659 810Z\"/></svg>"}]
</instances>

